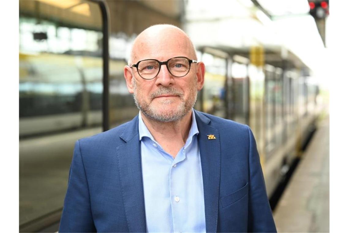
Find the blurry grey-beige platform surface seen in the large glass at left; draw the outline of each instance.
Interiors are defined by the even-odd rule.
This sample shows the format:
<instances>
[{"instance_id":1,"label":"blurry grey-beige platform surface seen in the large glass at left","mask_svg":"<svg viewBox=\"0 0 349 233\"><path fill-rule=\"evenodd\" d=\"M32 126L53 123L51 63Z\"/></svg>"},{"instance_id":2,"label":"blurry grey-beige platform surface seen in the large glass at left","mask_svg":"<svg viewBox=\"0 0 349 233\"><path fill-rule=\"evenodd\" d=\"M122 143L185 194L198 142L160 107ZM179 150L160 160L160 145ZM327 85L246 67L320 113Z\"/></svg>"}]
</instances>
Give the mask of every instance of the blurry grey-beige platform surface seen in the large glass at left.
<instances>
[{"instance_id":1,"label":"blurry grey-beige platform surface seen in the large glass at left","mask_svg":"<svg viewBox=\"0 0 349 233\"><path fill-rule=\"evenodd\" d=\"M101 128L20 140L19 224L62 209L77 139Z\"/></svg>"}]
</instances>

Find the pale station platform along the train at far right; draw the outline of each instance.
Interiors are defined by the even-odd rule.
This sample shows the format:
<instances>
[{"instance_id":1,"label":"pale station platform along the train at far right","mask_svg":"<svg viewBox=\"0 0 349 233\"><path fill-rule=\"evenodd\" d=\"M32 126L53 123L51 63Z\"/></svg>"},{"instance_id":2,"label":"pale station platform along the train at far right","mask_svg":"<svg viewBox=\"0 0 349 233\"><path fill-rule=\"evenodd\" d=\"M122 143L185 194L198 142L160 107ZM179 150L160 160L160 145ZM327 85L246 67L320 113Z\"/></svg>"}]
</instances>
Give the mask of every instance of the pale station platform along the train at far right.
<instances>
[{"instance_id":1,"label":"pale station platform along the train at far right","mask_svg":"<svg viewBox=\"0 0 349 233\"><path fill-rule=\"evenodd\" d=\"M329 232L329 116L302 155L274 213L277 232Z\"/></svg>"}]
</instances>

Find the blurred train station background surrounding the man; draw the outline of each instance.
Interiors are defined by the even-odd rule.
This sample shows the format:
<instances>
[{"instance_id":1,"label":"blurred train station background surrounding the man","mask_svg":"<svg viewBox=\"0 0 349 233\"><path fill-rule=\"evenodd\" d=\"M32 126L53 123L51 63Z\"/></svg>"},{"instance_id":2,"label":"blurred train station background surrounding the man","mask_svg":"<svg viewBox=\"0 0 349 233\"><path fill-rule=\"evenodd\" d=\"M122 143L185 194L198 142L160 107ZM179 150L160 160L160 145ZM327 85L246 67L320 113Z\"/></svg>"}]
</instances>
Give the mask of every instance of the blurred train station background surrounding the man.
<instances>
[{"instance_id":1,"label":"blurred train station background surrounding the man","mask_svg":"<svg viewBox=\"0 0 349 233\"><path fill-rule=\"evenodd\" d=\"M135 37L173 24L195 109L251 127L279 232L329 232L329 0L19 0L19 230L56 232L77 139L131 120Z\"/></svg>"}]
</instances>

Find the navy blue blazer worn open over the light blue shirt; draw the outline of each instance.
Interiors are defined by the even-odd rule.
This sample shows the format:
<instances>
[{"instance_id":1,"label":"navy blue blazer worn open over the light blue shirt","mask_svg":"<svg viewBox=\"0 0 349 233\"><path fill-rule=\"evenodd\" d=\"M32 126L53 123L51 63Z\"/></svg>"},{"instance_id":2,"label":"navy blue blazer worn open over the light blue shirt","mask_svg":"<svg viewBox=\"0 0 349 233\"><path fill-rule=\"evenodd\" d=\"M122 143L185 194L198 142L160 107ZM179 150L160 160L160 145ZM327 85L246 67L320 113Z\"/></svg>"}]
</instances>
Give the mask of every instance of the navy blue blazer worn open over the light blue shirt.
<instances>
[{"instance_id":1,"label":"navy blue blazer worn open over the light blue shirt","mask_svg":"<svg viewBox=\"0 0 349 233\"><path fill-rule=\"evenodd\" d=\"M276 232L250 128L195 117L206 232ZM59 232L146 232L138 115L76 142Z\"/></svg>"}]
</instances>

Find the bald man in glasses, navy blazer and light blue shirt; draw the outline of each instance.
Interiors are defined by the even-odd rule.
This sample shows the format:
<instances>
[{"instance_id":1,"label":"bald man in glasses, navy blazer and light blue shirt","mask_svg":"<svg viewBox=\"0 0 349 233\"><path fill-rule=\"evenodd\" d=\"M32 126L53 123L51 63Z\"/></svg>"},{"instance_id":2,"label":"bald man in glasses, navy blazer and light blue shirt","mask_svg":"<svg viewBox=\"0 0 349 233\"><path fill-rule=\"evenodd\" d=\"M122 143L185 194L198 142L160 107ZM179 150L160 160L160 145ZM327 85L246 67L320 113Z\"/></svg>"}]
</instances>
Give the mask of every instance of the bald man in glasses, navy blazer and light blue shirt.
<instances>
[{"instance_id":1,"label":"bald man in glasses, navy blazer and light blue shirt","mask_svg":"<svg viewBox=\"0 0 349 233\"><path fill-rule=\"evenodd\" d=\"M60 232L275 232L250 128L193 110L205 65L179 28L124 68L140 114L76 142Z\"/></svg>"}]
</instances>

